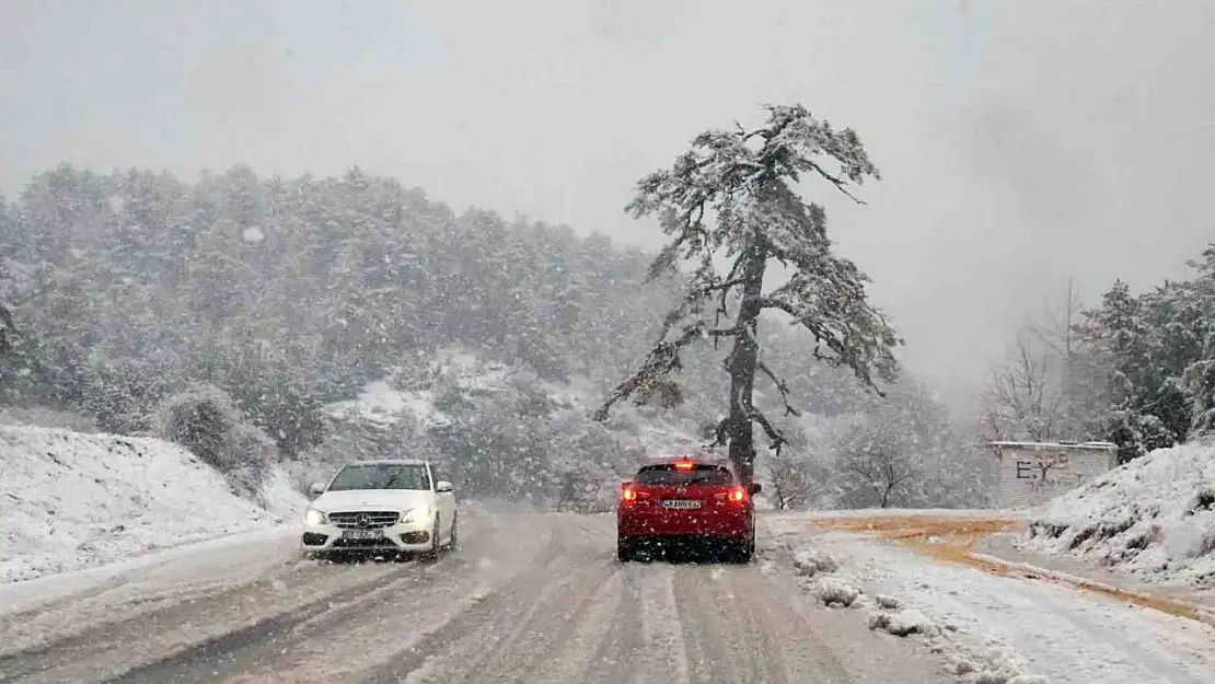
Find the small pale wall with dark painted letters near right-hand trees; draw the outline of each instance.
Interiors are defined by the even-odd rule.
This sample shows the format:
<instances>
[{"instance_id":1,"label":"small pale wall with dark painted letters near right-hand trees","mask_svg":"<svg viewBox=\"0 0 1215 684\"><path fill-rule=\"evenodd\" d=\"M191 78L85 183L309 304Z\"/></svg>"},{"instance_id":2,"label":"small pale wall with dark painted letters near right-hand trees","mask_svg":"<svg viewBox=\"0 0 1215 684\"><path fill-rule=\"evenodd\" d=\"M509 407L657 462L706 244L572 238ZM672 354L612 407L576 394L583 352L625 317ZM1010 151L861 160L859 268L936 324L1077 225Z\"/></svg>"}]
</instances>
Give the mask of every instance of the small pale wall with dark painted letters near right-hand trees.
<instances>
[{"instance_id":1,"label":"small pale wall with dark painted letters near right-hand trees","mask_svg":"<svg viewBox=\"0 0 1215 684\"><path fill-rule=\"evenodd\" d=\"M993 442L1000 459L1000 507L1029 508L1098 477L1118 465L1114 445Z\"/></svg>"}]
</instances>

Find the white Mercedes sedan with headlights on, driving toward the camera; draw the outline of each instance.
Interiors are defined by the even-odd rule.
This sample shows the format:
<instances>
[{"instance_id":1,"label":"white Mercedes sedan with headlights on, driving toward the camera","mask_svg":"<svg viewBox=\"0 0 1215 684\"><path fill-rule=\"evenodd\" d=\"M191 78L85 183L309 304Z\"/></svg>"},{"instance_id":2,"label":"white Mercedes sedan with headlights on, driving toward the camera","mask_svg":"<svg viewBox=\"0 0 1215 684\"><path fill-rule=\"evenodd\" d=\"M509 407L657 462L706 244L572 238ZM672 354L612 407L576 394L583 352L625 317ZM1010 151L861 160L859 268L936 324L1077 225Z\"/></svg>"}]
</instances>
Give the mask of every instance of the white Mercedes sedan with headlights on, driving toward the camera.
<instances>
[{"instance_id":1,"label":"white Mercedes sedan with headlights on, driving toward the camera","mask_svg":"<svg viewBox=\"0 0 1215 684\"><path fill-rule=\"evenodd\" d=\"M456 493L425 460L347 463L328 486L310 487L316 498L304 514L303 552L388 552L437 556L454 549Z\"/></svg>"}]
</instances>

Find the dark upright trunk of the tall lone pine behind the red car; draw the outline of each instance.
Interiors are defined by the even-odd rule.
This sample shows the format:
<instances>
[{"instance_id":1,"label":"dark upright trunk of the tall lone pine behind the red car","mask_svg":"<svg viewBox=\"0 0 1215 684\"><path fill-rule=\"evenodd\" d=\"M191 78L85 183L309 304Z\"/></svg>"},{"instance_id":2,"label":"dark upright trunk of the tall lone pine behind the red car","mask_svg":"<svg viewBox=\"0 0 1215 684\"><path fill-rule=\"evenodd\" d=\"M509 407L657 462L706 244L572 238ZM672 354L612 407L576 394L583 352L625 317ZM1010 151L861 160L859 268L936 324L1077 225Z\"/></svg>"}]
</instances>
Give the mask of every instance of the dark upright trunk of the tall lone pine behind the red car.
<instances>
[{"instance_id":1,"label":"dark upright trunk of the tall lone pine behind the red car","mask_svg":"<svg viewBox=\"0 0 1215 684\"><path fill-rule=\"evenodd\" d=\"M751 247L744 256L739 276L744 281L742 301L739 305L739 317L735 324L742 332L734 338L734 349L730 350L730 356L727 358L727 368L730 372L730 414L728 419L730 464L745 486L751 486L755 481L756 447L751 407L756 371L759 367L757 330L767 264L767 255L758 247Z\"/></svg>"}]
</instances>

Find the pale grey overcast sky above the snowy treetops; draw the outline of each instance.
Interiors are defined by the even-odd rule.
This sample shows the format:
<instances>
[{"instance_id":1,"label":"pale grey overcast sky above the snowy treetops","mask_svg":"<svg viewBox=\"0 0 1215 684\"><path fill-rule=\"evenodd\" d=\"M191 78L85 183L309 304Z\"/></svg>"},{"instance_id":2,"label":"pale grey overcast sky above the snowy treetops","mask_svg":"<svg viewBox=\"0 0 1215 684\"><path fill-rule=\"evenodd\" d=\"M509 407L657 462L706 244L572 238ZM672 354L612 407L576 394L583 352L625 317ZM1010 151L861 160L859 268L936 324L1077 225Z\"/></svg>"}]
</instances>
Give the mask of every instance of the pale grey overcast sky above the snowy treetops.
<instances>
[{"instance_id":1,"label":"pale grey overcast sky above the snowy treetops","mask_svg":"<svg viewBox=\"0 0 1215 684\"><path fill-rule=\"evenodd\" d=\"M1210 0L5 0L0 187L358 164L652 247L640 175L799 101L881 169L866 207L809 190L956 391L1069 276L1142 289L1215 241L1213 35Z\"/></svg>"}]
</instances>

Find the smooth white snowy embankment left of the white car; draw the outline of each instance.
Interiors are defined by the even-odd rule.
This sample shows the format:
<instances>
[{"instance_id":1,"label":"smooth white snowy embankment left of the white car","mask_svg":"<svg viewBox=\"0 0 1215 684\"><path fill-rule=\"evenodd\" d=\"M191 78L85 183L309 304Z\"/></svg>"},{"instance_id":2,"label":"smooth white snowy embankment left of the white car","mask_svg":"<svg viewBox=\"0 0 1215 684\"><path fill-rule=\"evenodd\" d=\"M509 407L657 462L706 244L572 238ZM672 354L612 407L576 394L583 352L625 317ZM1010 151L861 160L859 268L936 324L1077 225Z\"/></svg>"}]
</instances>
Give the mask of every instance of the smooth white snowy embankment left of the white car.
<instances>
[{"instance_id":1,"label":"smooth white snowy embankment left of the white car","mask_svg":"<svg viewBox=\"0 0 1215 684\"><path fill-rule=\"evenodd\" d=\"M160 440L0 426L0 582L282 525L303 504L273 470L269 507Z\"/></svg>"}]
</instances>

